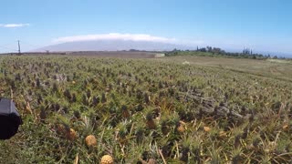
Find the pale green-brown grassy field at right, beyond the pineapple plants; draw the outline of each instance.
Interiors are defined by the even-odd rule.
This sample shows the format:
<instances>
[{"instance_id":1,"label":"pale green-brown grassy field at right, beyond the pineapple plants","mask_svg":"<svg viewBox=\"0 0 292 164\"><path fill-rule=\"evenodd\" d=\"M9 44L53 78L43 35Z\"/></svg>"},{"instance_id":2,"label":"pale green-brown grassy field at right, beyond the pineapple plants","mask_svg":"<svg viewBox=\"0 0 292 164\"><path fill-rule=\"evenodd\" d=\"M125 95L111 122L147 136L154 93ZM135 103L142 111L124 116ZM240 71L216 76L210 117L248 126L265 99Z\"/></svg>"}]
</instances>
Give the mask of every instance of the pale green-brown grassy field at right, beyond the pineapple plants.
<instances>
[{"instance_id":1,"label":"pale green-brown grassy field at right, beyond the pineapple plants","mask_svg":"<svg viewBox=\"0 0 292 164\"><path fill-rule=\"evenodd\" d=\"M164 58L165 59L165 58ZM282 80L292 80L292 61L267 59L254 60L246 58L226 58L210 56L173 56L168 60L189 62L189 64L218 67L222 69L254 74L262 77L274 77Z\"/></svg>"}]
</instances>

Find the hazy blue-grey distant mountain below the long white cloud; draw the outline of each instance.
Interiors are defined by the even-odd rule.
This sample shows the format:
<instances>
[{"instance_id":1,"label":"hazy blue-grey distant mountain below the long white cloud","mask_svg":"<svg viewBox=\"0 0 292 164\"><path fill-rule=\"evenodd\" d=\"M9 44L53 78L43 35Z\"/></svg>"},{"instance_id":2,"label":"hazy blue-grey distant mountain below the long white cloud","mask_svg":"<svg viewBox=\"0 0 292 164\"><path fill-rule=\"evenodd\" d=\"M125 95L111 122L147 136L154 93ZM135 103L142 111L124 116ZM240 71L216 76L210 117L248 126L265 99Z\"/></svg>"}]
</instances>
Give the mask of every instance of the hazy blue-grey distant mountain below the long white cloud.
<instances>
[{"instance_id":1,"label":"hazy blue-grey distant mountain below the long white cloud","mask_svg":"<svg viewBox=\"0 0 292 164\"><path fill-rule=\"evenodd\" d=\"M45 46L34 51L120 51L120 50L146 50L164 51L177 49L194 49L191 46L175 45L152 41L131 41L131 40L96 40L68 42L52 46Z\"/></svg>"}]
</instances>

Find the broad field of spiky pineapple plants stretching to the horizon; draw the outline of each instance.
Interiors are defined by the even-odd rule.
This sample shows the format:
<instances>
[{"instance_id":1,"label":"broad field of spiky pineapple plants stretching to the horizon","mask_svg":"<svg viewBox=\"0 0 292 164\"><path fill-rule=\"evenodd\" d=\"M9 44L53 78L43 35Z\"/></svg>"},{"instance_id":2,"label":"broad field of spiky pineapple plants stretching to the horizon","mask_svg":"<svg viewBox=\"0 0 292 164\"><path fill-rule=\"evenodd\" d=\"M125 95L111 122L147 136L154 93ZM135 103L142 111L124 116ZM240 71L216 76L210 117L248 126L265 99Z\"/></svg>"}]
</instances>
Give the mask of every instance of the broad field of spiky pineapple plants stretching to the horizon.
<instances>
[{"instance_id":1,"label":"broad field of spiky pineapple plants stretching to the horizon","mask_svg":"<svg viewBox=\"0 0 292 164\"><path fill-rule=\"evenodd\" d=\"M0 141L0 161L291 163L291 69L197 56L0 56L0 96L24 122Z\"/></svg>"}]
</instances>

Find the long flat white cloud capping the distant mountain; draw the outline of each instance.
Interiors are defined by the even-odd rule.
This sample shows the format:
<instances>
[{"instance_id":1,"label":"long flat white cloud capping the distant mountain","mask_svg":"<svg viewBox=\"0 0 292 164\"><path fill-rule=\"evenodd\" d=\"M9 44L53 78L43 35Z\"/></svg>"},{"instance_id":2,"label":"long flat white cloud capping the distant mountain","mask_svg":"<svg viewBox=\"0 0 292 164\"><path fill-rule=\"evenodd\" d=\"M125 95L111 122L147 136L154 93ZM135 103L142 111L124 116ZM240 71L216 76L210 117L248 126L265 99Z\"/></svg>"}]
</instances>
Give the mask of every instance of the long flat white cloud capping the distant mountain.
<instances>
[{"instance_id":1,"label":"long flat white cloud capping the distant mountain","mask_svg":"<svg viewBox=\"0 0 292 164\"><path fill-rule=\"evenodd\" d=\"M152 41L152 42L163 42L173 43L176 41L175 38L167 38L160 36L150 36L145 34L99 34L99 35L86 35L86 36L65 36L54 39L53 42L76 42L76 41L92 41L92 40L130 40L130 41Z\"/></svg>"}]
</instances>

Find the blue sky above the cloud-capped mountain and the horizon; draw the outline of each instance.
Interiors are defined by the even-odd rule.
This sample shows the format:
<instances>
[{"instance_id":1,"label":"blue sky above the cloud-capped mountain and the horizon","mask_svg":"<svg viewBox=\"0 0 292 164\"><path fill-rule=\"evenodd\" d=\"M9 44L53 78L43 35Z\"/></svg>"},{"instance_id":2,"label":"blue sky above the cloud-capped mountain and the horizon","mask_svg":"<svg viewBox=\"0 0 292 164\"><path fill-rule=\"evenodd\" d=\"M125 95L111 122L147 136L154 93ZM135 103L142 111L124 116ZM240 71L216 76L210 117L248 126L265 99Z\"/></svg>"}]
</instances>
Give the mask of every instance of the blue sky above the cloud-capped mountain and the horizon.
<instances>
[{"instance_id":1,"label":"blue sky above the cloud-capped mountain and the horizon","mask_svg":"<svg viewBox=\"0 0 292 164\"><path fill-rule=\"evenodd\" d=\"M30 50L116 33L292 54L291 8L289 0L1 0L0 52L17 39Z\"/></svg>"}]
</instances>

